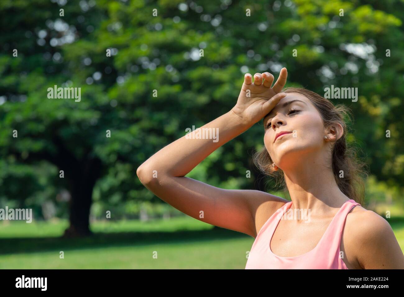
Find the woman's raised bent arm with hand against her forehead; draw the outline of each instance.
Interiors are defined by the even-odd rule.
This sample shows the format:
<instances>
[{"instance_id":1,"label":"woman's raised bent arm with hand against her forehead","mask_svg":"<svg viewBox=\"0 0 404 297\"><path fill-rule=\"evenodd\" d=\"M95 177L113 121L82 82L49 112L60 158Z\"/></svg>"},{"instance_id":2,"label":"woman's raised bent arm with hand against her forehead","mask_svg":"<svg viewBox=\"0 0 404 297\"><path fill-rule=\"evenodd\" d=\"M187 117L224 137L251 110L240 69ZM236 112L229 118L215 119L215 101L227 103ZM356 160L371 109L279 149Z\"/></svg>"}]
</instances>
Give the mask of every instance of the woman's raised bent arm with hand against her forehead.
<instances>
[{"instance_id":1,"label":"woman's raised bent arm with hand against her forehead","mask_svg":"<svg viewBox=\"0 0 404 297\"><path fill-rule=\"evenodd\" d=\"M258 76L257 76L258 75ZM245 75L236 105L200 127L215 139L198 139L196 131L163 147L137 169L140 181L156 196L179 211L219 227L256 235L255 211L262 203L281 198L255 190L225 190L185 177L221 145L261 120L286 94L278 93L286 82L286 69L273 88L273 76ZM264 82L262 82L264 78ZM248 97L250 95L250 97ZM218 132L218 133L217 133Z\"/></svg>"}]
</instances>

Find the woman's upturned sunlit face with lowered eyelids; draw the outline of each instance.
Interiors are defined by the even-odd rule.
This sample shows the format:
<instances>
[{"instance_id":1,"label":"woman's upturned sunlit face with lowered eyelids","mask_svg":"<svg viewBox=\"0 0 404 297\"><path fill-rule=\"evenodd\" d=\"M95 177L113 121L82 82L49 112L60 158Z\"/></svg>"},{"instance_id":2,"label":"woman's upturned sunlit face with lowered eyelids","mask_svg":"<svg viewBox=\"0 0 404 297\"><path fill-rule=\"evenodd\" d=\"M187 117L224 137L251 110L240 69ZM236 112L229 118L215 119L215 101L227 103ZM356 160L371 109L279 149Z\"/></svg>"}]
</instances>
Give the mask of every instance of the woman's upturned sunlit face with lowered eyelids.
<instances>
[{"instance_id":1,"label":"woman's upturned sunlit face with lowered eyelids","mask_svg":"<svg viewBox=\"0 0 404 297\"><path fill-rule=\"evenodd\" d=\"M290 103L290 104L285 104ZM284 106L285 105L285 106ZM299 93L287 93L264 118L264 144L272 161L287 168L324 148L323 121L313 103ZM275 137L280 132L290 132Z\"/></svg>"}]
</instances>

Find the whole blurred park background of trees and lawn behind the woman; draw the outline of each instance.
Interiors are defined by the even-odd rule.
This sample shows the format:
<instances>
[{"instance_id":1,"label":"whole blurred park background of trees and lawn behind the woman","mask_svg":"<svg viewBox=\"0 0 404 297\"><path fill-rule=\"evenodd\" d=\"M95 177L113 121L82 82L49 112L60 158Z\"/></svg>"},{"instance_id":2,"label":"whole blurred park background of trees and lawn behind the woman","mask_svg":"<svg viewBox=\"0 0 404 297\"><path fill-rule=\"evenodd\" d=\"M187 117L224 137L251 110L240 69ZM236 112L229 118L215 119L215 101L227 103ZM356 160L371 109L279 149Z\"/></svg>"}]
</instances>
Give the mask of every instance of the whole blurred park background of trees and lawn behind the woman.
<instances>
[{"instance_id":1,"label":"whole blurred park background of trees and lawn behind the woman","mask_svg":"<svg viewBox=\"0 0 404 297\"><path fill-rule=\"evenodd\" d=\"M243 269L252 237L177 211L136 169L228 112L245 73L282 67L286 86L358 88L331 100L353 111L364 207L404 249L403 15L403 0L0 1L0 209L34 217L0 221L0 268ZM81 101L49 99L55 85ZM252 164L262 146L261 121L187 176L287 198Z\"/></svg>"}]
</instances>

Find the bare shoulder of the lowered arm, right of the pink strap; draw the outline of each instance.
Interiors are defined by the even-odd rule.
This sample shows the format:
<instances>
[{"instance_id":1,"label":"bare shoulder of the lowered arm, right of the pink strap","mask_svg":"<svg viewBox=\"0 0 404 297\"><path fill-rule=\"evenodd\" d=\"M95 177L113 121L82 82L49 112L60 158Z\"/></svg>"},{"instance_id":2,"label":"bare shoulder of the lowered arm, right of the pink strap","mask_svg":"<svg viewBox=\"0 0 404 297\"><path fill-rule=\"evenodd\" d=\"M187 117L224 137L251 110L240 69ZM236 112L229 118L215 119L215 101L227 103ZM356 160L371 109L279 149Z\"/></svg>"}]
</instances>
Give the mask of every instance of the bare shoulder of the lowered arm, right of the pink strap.
<instances>
[{"instance_id":1,"label":"bare shoulder of the lowered arm, right of the pink strap","mask_svg":"<svg viewBox=\"0 0 404 297\"><path fill-rule=\"evenodd\" d=\"M344 246L362 269L404 269L404 255L389 222L362 206L345 221Z\"/></svg>"}]
</instances>

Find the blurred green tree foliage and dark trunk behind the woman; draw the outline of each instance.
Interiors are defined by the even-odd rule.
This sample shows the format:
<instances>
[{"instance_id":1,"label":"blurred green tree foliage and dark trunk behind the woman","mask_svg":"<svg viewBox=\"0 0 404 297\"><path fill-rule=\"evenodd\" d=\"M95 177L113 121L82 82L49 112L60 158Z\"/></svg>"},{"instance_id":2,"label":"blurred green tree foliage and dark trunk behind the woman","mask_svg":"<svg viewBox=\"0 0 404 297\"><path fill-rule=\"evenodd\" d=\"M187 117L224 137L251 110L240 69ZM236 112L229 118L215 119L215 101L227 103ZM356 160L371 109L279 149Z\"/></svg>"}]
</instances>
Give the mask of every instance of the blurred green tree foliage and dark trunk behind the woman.
<instances>
[{"instance_id":1,"label":"blurred green tree foliage and dark trunk behind the woman","mask_svg":"<svg viewBox=\"0 0 404 297\"><path fill-rule=\"evenodd\" d=\"M403 6L390 0L3 0L0 196L24 200L50 185L69 189L66 236L90 234L94 189L111 207L133 199L161 202L137 180L137 166L185 128L234 106L244 73L277 76L282 67L289 85L319 94L331 85L358 87L357 102L332 101L352 108L349 139L366 147L372 173L401 187ZM54 85L80 87L81 101L48 99ZM189 176L264 190L251 164L251 147L262 144L257 124ZM56 178L38 183L32 169L42 161ZM26 166L25 175L15 175L16 166Z\"/></svg>"}]
</instances>

